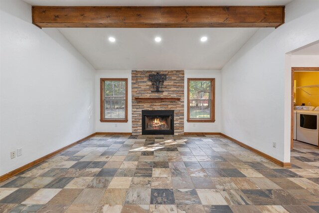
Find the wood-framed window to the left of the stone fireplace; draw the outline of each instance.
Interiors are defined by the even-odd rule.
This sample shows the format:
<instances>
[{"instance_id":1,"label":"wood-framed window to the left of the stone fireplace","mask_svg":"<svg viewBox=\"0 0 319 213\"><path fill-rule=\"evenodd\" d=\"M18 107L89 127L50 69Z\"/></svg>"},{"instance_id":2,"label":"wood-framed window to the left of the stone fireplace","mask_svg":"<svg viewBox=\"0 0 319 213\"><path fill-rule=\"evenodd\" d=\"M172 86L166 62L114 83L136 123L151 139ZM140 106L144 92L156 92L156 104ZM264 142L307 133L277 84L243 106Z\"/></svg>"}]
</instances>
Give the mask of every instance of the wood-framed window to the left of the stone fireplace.
<instances>
[{"instance_id":1,"label":"wood-framed window to the left of the stone fireplace","mask_svg":"<svg viewBox=\"0 0 319 213\"><path fill-rule=\"evenodd\" d=\"M128 122L128 79L101 78L101 122Z\"/></svg>"}]
</instances>

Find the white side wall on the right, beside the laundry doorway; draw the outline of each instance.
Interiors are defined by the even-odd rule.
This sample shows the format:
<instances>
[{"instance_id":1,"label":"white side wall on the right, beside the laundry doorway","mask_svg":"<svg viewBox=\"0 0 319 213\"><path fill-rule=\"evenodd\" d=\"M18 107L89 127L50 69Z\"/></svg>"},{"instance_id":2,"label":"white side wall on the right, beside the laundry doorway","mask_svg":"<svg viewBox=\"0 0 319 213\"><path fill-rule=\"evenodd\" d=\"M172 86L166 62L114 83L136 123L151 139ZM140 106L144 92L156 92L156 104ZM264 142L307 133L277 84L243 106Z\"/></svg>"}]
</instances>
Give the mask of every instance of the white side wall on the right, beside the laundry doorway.
<instances>
[{"instance_id":1,"label":"white side wall on the right, beside the laundry doorway","mask_svg":"<svg viewBox=\"0 0 319 213\"><path fill-rule=\"evenodd\" d=\"M224 66L224 134L290 162L291 61L285 53L319 40L318 20L319 1L293 1L285 24L259 29Z\"/></svg>"}]
</instances>

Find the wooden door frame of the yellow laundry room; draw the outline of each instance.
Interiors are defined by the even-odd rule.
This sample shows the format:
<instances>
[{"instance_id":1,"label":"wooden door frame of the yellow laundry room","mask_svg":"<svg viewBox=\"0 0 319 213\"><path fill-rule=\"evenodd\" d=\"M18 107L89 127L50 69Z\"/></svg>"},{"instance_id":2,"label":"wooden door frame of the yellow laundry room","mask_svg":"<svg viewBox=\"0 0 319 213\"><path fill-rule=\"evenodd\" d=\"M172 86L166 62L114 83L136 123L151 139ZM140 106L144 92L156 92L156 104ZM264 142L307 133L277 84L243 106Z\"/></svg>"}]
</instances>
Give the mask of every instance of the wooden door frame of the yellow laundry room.
<instances>
[{"instance_id":1,"label":"wooden door frame of the yellow laundry room","mask_svg":"<svg viewBox=\"0 0 319 213\"><path fill-rule=\"evenodd\" d=\"M291 139L290 150L294 147L294 74L295 71L319 71L319 67L292 67L291 68ZM318 139L319 140L319 139ZM319 144L318 144L319 148Z\"/></svg>"}]
</instances>

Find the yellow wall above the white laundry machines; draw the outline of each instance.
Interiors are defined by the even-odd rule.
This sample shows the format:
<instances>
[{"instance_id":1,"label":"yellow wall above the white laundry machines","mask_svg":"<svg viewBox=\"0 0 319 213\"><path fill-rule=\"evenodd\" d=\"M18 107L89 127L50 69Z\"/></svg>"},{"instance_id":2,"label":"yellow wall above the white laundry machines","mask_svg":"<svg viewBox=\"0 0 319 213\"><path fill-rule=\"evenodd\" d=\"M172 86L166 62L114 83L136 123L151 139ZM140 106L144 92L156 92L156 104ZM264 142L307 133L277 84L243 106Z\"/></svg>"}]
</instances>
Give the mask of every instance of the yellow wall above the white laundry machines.
<instances>
[{"instance_id":1,"label":"yellow wall above the white laundry machines","mask_svg":"<svg viewBox=\"0 0 319 213\"><path fill-rule=\"evenodd\" d=\"M296 72L294 73L294 79L296 80L296 86L309 86L319 84L319 72ZM311 95L307 94L310 93ZM312 106L319 106L319 88L302 88L296 91L296 104L301 105L305 103L308 106L308 102L311 102Z\"/></svg>"}]
</instances>

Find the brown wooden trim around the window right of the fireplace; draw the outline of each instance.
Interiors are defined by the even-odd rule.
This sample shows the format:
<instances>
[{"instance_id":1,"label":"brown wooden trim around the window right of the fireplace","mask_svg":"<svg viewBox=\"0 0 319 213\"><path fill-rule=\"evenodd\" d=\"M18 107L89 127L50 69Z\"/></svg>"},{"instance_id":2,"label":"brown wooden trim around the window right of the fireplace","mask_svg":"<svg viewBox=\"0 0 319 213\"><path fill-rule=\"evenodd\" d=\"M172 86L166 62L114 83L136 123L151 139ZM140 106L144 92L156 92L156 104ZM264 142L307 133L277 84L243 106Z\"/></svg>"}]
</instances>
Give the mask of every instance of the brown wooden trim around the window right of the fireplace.
<instances>
[{"instance_id":1,"label":"brown wooden trim around the window right of the fireplace","mask_svg":"<svg viewBox=\"0 0 319 213\"><path fill-rule=\"evenodd\" d=\"M211 82L211 107L210 107L210 119L190 119L189 118L189 82L190 81L210 81ZM215 122L215 78L187 78L187 122Z\"/></svg>"}]
</instances>

